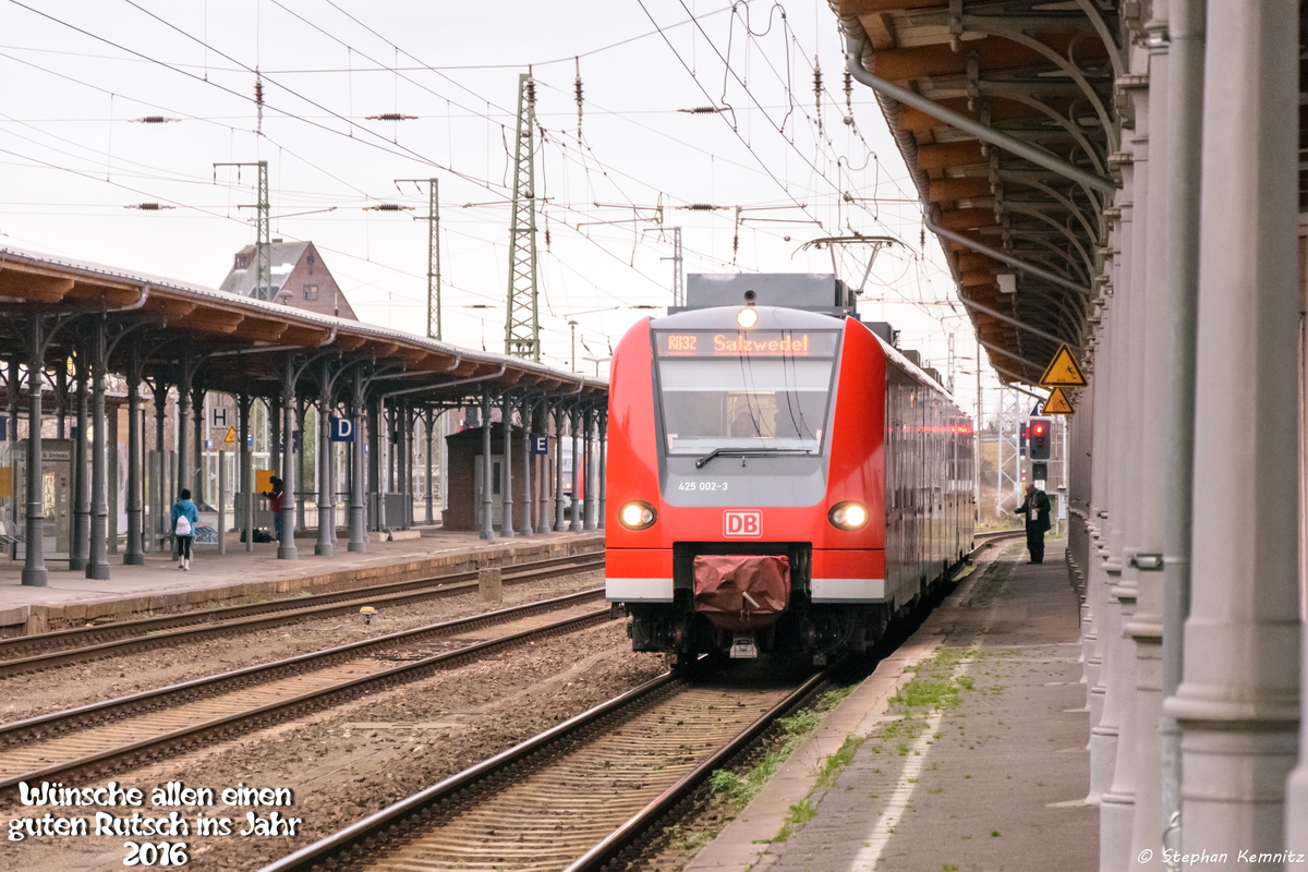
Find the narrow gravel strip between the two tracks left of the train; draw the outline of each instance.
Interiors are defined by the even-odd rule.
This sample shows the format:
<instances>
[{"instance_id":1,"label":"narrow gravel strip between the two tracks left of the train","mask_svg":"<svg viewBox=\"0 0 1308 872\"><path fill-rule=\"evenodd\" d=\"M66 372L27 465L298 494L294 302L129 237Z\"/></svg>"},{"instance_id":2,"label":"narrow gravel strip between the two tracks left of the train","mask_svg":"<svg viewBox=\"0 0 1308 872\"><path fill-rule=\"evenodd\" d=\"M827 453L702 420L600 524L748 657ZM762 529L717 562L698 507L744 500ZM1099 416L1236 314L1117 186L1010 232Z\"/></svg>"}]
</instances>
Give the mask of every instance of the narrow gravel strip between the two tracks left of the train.
<instances>
[{"instance_id":1,"label":"narrow gravel strip between the two tracks left of the train","mask_svg":"<svg viewBox=\"0 0 1308 872\"><path fill-rule=\"evenodd\" d=\"M603 584L603 570L593 570L543 582L506 586L504 605L551 599ZM385 608L373 618L371 626L356 614L332 614L264 630L170 643L153 651L122 654L103 660L10 676L0 679L0 723L25 720L425 624L467 617L492 608L498 607L487 605L475 592L460 594L447 599Z\"/></svg>"}]
</instances>

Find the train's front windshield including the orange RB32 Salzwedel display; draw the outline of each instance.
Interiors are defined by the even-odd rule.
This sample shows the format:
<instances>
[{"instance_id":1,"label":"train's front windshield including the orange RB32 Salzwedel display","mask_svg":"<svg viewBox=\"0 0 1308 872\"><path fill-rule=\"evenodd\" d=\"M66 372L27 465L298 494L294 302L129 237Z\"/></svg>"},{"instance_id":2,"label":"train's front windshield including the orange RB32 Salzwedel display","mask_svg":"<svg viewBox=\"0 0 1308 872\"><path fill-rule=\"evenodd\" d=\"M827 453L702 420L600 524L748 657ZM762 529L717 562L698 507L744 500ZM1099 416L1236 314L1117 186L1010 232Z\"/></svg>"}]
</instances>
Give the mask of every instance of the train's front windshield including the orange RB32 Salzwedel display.
<instances>
[{"instance_id":1,"label":"train's front windshield including the orange RB32 Salzwedel display","mask_svg":"<svg viewBox=\"0 0 1308 872\"><path fill-rule=\"evenodd\" d=\"M821 452L836 331L655 332L664 451Z\"/></svg>"}]
</instances>

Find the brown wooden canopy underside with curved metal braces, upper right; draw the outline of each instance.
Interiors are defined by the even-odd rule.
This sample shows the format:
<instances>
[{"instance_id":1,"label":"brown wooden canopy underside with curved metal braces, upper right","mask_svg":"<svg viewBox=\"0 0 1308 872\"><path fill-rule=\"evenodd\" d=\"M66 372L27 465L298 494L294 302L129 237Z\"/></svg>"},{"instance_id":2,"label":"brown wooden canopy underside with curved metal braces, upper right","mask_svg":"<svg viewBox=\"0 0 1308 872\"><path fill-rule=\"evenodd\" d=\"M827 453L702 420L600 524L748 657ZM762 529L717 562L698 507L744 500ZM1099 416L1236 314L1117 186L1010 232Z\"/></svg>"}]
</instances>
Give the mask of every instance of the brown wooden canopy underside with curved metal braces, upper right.
<instances>
[{"instance_id":1,"label":"brown wooden canopy underside with curved metal braces, upper right","mask_svg":"<svg viewBox=\"0 0 1308 872\"><path fill-rule=\"evenodd\" d=\"M1133 126L1122 95L1147 84L1124 72L1120 14L1147 4L833 5L991 363L1037 383L1059 344L1088 341Z\"/></svg>"}]
</instances>

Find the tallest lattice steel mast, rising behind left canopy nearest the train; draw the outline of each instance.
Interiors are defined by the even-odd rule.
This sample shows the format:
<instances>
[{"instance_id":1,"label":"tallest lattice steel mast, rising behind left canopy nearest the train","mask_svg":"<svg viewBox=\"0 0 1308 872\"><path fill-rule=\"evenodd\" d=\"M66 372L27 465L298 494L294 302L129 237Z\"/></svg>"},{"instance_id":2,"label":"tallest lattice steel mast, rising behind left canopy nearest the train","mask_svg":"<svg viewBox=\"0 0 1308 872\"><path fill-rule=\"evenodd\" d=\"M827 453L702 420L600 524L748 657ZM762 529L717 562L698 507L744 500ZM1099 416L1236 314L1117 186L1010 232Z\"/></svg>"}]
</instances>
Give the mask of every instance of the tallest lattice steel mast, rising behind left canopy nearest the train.
<instances>
[{"instance_id":1,"label":"tallest lattice steel mast, rising behind left canopy nearest the train","mask_svg":"<svg viewBox=\"0 0 1308 872\"><path fill-rule=\"evenodd\" d=\"M536 292L536 82L518 76L518 136L514 144L513 225L509 229L509 306L504 353L540 360Z\"/></svg>"}]
</instances>

